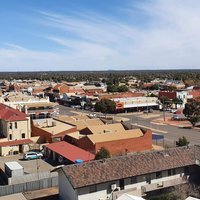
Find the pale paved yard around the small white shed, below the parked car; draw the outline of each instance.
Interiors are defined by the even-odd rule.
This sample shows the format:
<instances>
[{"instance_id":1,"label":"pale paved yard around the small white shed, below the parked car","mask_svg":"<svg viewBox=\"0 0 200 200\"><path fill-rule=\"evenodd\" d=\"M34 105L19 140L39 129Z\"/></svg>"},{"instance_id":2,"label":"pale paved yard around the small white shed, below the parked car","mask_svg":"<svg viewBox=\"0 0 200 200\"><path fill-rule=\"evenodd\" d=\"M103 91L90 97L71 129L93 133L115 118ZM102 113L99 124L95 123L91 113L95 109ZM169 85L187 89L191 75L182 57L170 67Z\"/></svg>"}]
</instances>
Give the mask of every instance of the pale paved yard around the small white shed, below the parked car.
<instances>
[{"instance_id":1,"label":"pale paved yard around the small white shed, below the parked car","mask_svg":"<svg viewBox=\"0 0 200 200\"><path fill-rule=\"evenodd\" d=\"M0 157L0 168L4 171L4 163L12 161L17 161L24 168L25 173L51 171L54 168L43 159L23 160L22 157L22 154Z\"/></svg>"}]
</instances>

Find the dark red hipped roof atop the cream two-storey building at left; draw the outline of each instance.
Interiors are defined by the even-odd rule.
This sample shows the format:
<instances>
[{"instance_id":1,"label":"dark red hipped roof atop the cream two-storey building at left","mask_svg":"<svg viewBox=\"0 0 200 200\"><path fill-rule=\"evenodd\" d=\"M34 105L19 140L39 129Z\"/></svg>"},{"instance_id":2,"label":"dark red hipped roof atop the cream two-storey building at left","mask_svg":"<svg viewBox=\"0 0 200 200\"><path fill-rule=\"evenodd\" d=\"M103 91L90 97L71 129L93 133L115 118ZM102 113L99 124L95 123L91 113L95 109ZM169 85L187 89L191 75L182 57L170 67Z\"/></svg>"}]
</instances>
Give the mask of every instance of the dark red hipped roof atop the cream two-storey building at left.
<instances>
[{"instance_id":1,"label":"dark red hipped roof atop the cream two-storey building at left","mask_svg":"<svg viewBox=\"0 0 200 200\"><path fill-rule=\"evenodd\" d=\"M23 121L27 120L26 117L25 113L0 103L0 119L6 121Z\"/></svg>"}]
</instances>

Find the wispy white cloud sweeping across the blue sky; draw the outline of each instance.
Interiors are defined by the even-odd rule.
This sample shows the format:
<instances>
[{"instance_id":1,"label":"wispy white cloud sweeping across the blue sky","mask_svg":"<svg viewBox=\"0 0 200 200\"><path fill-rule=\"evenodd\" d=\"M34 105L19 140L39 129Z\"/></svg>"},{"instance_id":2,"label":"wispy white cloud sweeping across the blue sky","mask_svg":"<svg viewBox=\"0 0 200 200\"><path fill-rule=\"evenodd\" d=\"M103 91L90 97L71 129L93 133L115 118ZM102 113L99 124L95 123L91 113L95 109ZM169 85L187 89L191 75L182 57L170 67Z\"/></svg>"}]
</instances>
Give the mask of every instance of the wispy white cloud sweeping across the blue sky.
<instances>
[{"instance_id":1,"label":"wispy white cloud sweeping across the blue sky","mask_svg":"<svg viewBox=\"0 0 200 200\"><path fill-rule=\"evenodd\" d=\"M139 25L135 9L145 16ZM121 9L128 21L88 11L73 15L40 12L43 26L58 33L44 37L61 50L33 51L7 43L8 48L0 49L0 66L32 70L200 68L199 10L198 0L149 0Z\"/></svg>"}]
</instances>

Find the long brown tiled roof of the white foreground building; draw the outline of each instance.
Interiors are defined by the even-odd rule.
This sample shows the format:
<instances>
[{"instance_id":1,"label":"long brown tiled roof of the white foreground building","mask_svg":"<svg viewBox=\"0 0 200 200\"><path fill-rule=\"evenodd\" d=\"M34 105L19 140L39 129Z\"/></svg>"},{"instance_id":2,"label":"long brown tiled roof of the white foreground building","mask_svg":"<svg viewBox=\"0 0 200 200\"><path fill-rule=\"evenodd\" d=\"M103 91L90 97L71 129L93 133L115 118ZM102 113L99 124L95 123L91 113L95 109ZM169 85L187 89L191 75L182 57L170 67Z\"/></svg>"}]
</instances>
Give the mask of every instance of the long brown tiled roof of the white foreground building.
<instances>
[{"instance_id":1,"label":"long brown tiled roof of the white foreground building","mask_svg":"<svg viewBox=\"0 0 200 200\"><path fill-rule=\"evenodd\" d=\"M62 167L73 188L194 165L200 146L179 147Z\"/></svg>"}]
</instances>

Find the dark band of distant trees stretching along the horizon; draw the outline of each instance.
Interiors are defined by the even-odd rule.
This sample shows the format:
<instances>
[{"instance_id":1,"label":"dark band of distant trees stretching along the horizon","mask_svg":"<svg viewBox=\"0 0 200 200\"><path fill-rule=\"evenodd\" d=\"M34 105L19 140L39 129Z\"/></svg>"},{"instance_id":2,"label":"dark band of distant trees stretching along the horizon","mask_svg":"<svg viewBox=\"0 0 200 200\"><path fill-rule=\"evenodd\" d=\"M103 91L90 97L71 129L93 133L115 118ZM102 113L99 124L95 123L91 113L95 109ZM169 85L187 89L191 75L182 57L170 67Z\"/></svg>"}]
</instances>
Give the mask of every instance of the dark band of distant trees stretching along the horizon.
<instances>
[{"instance_id":1,"label":"dark band of distant trees stretching along the horizon","mask_svg":"<svg viewBox=\"0 0 200 200\"><path fill-rule=\"evenodd\" d=\"M43 72L0 72L1 80L38 79L60 81L98 81L116 85L136 77L142 82L155 78L182 80L188 85L200 83L200 70L127 70L127 71L43 71Z\"/></svg>"}]
</instances>

